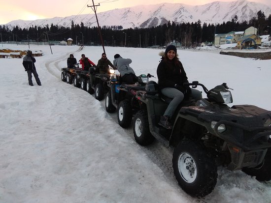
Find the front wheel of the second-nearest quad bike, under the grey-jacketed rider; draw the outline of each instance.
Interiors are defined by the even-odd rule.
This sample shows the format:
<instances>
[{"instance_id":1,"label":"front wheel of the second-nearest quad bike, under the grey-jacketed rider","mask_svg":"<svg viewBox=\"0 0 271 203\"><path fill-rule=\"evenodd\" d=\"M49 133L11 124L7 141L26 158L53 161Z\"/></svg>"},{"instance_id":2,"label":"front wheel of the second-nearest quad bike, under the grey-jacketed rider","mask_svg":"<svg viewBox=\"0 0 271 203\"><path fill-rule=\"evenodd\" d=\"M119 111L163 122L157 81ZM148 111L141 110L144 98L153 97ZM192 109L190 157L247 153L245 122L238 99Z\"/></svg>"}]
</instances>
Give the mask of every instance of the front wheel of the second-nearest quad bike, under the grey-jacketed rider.
<instances>
[{"instance_id":1,"label":"front wheel of the second-nearest quad bike, under the grey-jacketed rider","mask_svg":"<svg viewBox=\"0 0 271 203\"><path fill-rule=\"evenodd\" d=\"M132 107L127 100L123 100L119 103L117 109L117 116L119 125L123 128L128 128L132 121Z\"/></svg>"}]
</instances>

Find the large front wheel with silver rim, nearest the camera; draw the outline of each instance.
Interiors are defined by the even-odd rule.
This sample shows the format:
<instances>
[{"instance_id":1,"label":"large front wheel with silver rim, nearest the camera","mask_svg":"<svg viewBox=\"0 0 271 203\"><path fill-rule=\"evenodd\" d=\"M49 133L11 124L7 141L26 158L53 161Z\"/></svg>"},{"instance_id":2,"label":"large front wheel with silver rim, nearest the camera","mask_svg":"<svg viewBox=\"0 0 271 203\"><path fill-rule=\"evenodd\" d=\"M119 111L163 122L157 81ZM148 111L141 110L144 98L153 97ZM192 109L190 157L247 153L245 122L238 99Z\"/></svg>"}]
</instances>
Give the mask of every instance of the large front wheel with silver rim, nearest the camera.
<instances>
[{"instance_id":1,"label":"large front wheel with silver rim, nearest the camera","mask_svg":"<svg viewBox=\"0 0 271 203\"><path fill-rule=\"evenodd\" d=\"M184 140L173 152L172 166L181 188L191 196L210 194L217 181L214 157L204 145Z\"/></svg>"}]
</instances>

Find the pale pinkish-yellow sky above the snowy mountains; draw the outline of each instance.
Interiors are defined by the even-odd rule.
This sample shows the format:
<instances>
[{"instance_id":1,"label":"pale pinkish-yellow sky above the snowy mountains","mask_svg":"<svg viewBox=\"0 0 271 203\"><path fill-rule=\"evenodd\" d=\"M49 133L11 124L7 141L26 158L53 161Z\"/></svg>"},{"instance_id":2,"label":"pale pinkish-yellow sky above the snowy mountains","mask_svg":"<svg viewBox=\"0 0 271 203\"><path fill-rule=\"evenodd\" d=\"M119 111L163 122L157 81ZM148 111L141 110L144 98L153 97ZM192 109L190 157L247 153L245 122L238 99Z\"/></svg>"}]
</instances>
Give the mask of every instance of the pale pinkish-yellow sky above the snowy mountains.
<instances>
[{"instance_id":1,"label":"pale pinkish-yellow sky above the snowy mountains","mask_svg":"<svg viewBox=\"0 0 271 203\"><path fill-rule=\"evenodd\" d=\"M94 0L97 12L112 10L115 8L132 7L142 4L184 3L189 5L203 5L215 0ZM233 0L220 0L233 1ZM264 3L271 7L270 0L248 0ZM7 24L13 20L36 20L53 17L66 17L78 14L94 13L91 7L92 0L0 0L0 24Z\"/></svg>"}]
</instances>

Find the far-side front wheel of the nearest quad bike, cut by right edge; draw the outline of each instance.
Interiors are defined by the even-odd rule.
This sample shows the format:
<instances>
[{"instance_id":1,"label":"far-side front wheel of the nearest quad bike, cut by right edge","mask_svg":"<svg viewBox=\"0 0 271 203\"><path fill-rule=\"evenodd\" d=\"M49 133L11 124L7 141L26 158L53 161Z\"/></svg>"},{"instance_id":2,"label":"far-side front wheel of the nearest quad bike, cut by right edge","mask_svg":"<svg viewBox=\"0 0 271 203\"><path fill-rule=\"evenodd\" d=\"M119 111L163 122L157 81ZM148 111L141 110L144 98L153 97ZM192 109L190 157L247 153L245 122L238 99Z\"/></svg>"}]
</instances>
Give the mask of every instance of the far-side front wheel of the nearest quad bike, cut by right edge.
<instances>
[{"instance_id":1,"label":"far-side front wheel of the nearest quad bike, cut by right edge","mask_svg":"<svg viewBox=\"0 0 271 203\"><path fill-rule=\"evenodd\" d=\"M266 152L266 156L262 164L255 168L243 168L242 171L248 175L256 176L259 181L271 180L271 149Z\"/></svg>"}]
</instances>

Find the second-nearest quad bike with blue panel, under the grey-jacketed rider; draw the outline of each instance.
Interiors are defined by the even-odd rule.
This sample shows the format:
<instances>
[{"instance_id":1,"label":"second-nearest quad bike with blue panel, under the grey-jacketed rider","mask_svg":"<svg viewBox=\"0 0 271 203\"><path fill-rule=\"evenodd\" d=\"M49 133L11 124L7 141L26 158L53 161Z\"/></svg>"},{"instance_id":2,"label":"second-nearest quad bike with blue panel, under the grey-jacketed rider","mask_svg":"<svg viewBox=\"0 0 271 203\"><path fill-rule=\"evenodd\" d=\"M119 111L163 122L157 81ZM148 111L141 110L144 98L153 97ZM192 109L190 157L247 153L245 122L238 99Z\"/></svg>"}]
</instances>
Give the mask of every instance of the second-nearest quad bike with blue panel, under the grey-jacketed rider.
<instances>
[{"instance_id":1,"label":"second-nearest quad bike with blue panel, under the grey-jacketed rider","mask_svg":"<svg viewBox=\"0 0 271 203\"><path fill-rule=\"evenodd\" d=\"M133 105L136 90L144 90L149 78L154 77L151 74L141 74L137 76L137 82L133 85L120 84L119 76L111 77L108 82L110 91L105 96L105 109L109 113L115 112L117 109L118 123L121 127L127 128L131 125L131 121L136 110Z\"/></svg>"}]
</instances>

